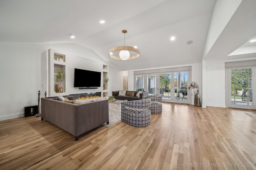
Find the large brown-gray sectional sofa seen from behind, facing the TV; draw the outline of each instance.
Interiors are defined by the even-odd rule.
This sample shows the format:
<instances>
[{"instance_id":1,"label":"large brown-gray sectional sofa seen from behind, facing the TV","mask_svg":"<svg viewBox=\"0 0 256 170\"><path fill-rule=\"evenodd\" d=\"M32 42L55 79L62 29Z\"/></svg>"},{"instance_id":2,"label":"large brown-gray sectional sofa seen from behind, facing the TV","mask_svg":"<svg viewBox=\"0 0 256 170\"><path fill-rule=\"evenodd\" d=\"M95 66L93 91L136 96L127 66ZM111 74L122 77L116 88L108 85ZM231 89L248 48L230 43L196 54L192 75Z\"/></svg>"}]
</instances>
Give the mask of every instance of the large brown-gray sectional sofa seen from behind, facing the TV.
<instances>
[{"instance_id":1,"label":"large brown-gray sectional sofa seen from behind, facing the TV","mask_svg":"<svg viewBox=\"0 0 256 170\"><path fill-rule=\"evenodd\" d=\"M73 96L64 96L74 100ZM41 119L50 121L79 139L103 123L108 124L108 100L73 104L56 100L57 97L41 98Z\"/></svg>"}]
</instances>

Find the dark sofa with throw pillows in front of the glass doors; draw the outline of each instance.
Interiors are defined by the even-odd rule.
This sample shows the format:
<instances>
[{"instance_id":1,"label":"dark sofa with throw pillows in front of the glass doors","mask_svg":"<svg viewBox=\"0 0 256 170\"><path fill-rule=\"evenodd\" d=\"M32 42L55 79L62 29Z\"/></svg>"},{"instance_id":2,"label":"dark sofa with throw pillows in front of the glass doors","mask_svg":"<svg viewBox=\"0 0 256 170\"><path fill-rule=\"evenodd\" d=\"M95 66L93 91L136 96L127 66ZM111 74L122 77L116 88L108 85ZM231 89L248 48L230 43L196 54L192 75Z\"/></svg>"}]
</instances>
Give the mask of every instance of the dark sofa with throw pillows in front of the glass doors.
<instances>
[{"instance_id":1,"label":"dark sofa with throw pillows in front of the glass doors","mask_svg":"<svg viewBox=\"0 0 256 170\"><path fill-rule=\"evenodd\" d=\"M124 91L124 90L122 90ZM141 100L143 96L148 96L149 95L149 92L142 92L140 93L139 95L137 95L138 91L126 91L125 92L125 95L120 95L119 94L120 90L118 91L112 91L112 96L114 96L115 99L118 99L118 100ZM130 96L130 94L133 94L133 96ZM140 96L140 97L138 97Z\"/></svg>"}]
</instances>

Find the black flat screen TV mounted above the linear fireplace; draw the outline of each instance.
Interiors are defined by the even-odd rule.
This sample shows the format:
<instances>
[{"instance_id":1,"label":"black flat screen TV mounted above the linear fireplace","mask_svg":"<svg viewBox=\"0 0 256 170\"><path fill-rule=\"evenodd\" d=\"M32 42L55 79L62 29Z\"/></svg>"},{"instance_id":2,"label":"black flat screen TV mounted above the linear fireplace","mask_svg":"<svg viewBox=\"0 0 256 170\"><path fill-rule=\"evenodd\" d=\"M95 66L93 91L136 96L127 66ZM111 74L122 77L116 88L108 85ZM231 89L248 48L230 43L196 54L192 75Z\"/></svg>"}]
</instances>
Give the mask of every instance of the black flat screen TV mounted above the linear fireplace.
<instances>
[{"instance_id":1,"label":"black flat screen TV mounted above the linear fireplace","mask_svg":"<svg viewBox=\"0 0 256 170\"><path fill-rule=\"evenodd\" d=\"M74 87L100 87L101 72L75 68Z\"/></svg>"}]
</instances>

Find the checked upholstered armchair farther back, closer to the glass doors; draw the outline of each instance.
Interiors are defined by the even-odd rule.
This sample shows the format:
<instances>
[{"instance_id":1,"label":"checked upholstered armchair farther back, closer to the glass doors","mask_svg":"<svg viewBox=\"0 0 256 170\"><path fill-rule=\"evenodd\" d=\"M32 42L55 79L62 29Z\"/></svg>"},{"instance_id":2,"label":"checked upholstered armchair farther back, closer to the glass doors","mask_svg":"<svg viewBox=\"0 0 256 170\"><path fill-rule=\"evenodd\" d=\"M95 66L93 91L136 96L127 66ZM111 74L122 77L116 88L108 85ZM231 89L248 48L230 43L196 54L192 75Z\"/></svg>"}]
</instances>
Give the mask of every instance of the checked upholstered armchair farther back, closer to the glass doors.
<instances>
[{"instance_id":1,"label":"checked upholstered armchair farther back, closer to the glass doors","mask_svg":"<svg viewBox=\"0 0 256 170\"><path fill-rule=\"evenodd\" d=\"M162 101L161 94L152 94L149 96L143 96L143 99L151 99L150 110L151 114L160 114L162 113L162 104L158 101Z\"/></svg>"}]
</instances>

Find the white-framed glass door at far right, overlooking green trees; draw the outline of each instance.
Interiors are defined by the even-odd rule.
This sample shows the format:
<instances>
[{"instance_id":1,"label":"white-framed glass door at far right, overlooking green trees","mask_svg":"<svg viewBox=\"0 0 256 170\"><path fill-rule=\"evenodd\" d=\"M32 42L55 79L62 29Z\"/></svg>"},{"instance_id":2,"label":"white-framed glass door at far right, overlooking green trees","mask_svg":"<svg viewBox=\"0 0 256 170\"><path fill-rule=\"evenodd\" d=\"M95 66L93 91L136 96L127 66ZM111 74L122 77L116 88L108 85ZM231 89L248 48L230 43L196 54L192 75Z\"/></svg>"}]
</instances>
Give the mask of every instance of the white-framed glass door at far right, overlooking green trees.
<instances>
[{"instance_id":1,"label":"white-framed glass door at far right, overlooking green trees","mask_svg":"<svg viewBox=\"0 0 256 170\"><path fill-rule=\"evenodd\" d=\"M231 67L228 69L228 107L256 109L256 66ZM254 97L254 98L253 98Z\"/></svg>"}]
</instances>

